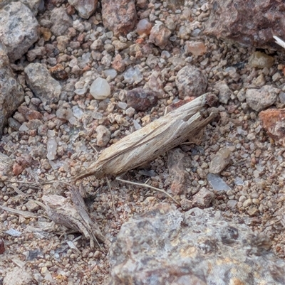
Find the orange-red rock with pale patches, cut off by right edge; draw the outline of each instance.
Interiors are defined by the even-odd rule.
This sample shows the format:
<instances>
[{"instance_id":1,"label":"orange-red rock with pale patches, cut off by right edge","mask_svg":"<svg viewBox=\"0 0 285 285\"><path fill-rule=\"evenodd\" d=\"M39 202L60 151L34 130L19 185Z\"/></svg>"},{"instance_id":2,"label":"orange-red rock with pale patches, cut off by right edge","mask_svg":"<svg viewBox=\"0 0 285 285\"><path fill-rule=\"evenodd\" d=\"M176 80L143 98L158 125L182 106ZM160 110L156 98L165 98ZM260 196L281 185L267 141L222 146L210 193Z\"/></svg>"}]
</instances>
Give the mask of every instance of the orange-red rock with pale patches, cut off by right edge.
<instances>
[{"instance_id":1,"label":"orange-red rock with pale patches, cut off by right edge","mask_svg":"<svg viewBox=\"0 0 285 285\"><path fill-rule=\"evenodd\" d=\"M267 109L259 113L259 119L267 134L285 146L285 109Z\"/></svg>"}]
</instances>

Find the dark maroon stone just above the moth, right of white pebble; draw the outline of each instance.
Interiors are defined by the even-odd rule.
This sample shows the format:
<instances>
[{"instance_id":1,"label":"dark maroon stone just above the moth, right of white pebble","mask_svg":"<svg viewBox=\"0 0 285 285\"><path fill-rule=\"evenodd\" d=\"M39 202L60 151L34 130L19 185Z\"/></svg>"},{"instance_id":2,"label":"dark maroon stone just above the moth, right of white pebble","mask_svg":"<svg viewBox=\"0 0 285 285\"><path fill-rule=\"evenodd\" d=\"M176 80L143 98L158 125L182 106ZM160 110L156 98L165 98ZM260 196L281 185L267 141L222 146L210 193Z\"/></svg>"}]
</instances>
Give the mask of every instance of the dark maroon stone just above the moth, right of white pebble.
<instances>
[{"instance_id":1,"label":"dark maroon stone just above the moth, right of white pebble","mask_svg":"<svg viewBox=\"0 0 285 285\"><path fill-rule=\"evenodd\" d=\"M128 107L136 111L145 111L157 102L157 95L152 90L135 88L127 93Z\"/></svg>"}]
</instances>

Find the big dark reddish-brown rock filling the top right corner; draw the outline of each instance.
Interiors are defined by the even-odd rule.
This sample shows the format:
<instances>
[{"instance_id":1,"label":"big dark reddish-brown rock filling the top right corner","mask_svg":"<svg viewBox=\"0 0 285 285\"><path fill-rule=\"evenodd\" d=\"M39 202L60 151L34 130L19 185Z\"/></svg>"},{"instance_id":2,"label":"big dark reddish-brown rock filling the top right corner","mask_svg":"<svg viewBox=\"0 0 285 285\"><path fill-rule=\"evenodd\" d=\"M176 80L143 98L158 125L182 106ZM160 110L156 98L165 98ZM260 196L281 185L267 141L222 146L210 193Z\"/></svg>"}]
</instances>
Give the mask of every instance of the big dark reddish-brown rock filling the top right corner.
<instances>
[{"instance_id":1,"label":"big dark reddish-brown rock filling the top right corner","mask_svg":"<svg viewBox=\"0 0 285 285\"><path fill-rule=\"evenodd\" d=\"M212 0L204 33L246 46L281 50L272 36L285 38L285 2Z\"/></svg>"}]
</instances>

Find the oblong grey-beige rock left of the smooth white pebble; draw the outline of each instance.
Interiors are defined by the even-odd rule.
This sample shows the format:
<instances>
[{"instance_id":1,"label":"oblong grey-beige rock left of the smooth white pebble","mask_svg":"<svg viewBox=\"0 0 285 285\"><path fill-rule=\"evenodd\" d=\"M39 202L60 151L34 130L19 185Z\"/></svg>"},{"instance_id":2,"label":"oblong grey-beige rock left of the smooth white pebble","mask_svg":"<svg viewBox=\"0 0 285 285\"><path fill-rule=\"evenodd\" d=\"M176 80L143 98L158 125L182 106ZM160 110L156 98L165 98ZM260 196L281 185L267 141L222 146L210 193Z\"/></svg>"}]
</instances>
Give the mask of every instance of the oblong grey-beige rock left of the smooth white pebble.
<instances>
[{"instance_id":1,"label":"oblong grey-beige rock left of the smooth white pebble","mask_svg":"<svg viewBox=\"0 0 285 285\"><path fill-rule=\"evenodd\" d=\"M51 77L46 67L41 63L30 63L25 70L26 82L33 94L41 102L51 104L58 102L61 95L61 85Z\"/></svg>"}]
</instances>

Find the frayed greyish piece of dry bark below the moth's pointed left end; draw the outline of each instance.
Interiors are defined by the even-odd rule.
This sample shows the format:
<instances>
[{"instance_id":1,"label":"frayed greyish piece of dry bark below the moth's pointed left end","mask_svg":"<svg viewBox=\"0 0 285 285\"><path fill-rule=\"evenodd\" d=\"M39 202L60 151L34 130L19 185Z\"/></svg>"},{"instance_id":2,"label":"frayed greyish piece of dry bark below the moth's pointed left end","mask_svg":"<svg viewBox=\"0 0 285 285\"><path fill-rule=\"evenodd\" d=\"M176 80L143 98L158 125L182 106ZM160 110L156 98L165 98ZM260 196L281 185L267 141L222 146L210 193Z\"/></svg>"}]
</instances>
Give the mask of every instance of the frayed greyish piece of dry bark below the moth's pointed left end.
<instances>
[{"instance_id":1,"label":"frayed greyish piece of dry bark below the moth's pointed left end","mask_svg":"<svg viewBox=\"0 0 285 285\"><path fill-rule=\"evenodd\" d=\"M71 199L60 195L43 195L46 213L53 222L81 232L90 240L90 247L93 248L94 243L98 244L98 240L103 242L105 237L100 232L98 223L95 220L90 220L86 205L78 189L74 186L68 189L71 192ZM100 244L98 245L100 247Z\"/></svg>"}]
</instances>

